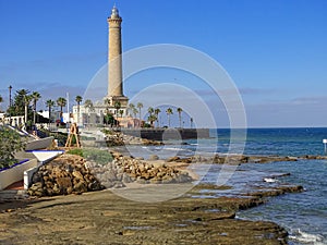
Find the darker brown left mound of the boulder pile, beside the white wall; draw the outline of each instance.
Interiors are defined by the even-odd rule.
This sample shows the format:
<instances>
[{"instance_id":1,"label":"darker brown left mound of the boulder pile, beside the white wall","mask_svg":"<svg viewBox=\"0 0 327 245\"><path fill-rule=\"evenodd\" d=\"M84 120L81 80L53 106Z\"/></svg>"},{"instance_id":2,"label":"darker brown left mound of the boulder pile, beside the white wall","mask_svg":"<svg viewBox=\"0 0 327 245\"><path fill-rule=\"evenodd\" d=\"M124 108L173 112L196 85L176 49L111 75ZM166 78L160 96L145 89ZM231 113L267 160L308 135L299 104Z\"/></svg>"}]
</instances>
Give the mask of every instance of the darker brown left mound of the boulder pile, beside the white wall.
<instances>
[{"instance_id":1,"label":"darker brown left mound of the boulder pile, beside the white wall","mask_svg":"<svg viewBox=\"0 0 327 245\"><path fill-rule=\"evenodd\" d=\"M100 182L85 168L85 160L73 155L63 155L41 166L32 177L28 194L53 196L81 194L102 188Z\"/></svg>"}]
</instances>

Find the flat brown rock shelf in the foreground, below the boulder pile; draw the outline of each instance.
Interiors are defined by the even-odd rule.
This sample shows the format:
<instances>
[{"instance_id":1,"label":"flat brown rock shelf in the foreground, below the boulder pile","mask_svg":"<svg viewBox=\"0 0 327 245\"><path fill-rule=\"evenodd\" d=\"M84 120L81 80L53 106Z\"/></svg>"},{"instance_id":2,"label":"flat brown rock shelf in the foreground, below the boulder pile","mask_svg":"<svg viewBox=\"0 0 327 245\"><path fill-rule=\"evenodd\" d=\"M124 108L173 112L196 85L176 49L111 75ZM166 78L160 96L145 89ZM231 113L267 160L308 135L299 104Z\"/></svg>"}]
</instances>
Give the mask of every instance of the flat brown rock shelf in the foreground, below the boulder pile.
<instances>
[{"instance_id":1,"label":"flat brown rock shelf in the foreground, below the boulder pile","mask_svg":"<svg viewBox=\"0 0 327 245\"><path fill-rule=\"evenodd\" d=\"M169 184L173 185L174 184ZM150 185L148 188L150 188ZM193 189L197 192L199 189ZM1 244L287 244L288 233L266 221L235 219L261 197L138 203L110 191L38 198L0 213Z\"/></svg>"}]
</instances>

